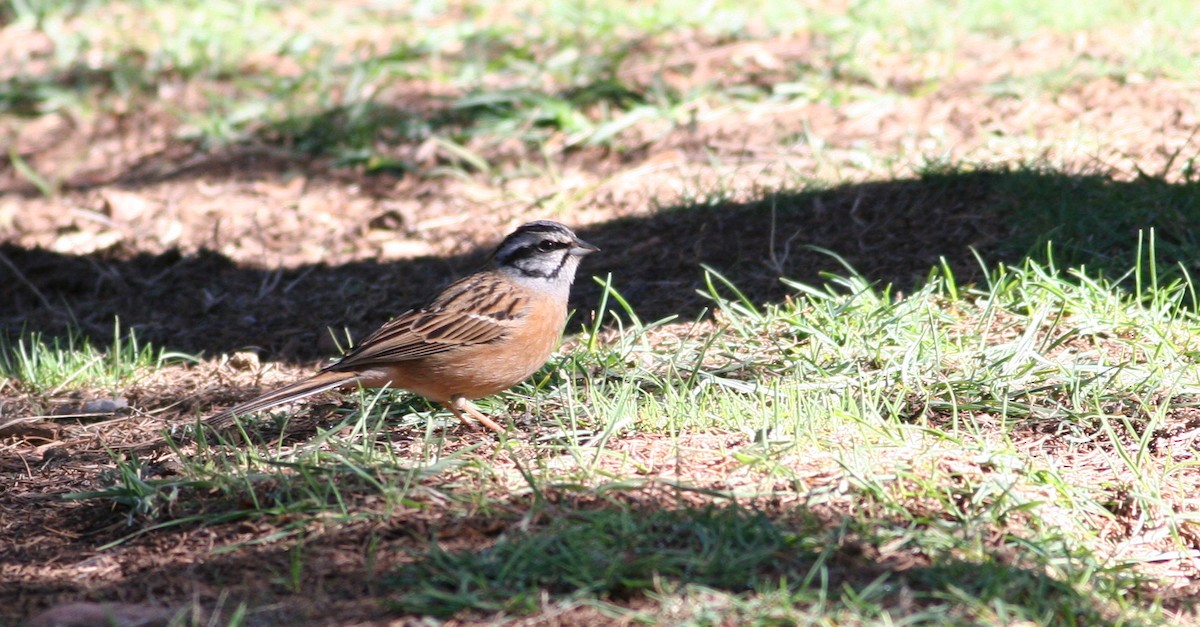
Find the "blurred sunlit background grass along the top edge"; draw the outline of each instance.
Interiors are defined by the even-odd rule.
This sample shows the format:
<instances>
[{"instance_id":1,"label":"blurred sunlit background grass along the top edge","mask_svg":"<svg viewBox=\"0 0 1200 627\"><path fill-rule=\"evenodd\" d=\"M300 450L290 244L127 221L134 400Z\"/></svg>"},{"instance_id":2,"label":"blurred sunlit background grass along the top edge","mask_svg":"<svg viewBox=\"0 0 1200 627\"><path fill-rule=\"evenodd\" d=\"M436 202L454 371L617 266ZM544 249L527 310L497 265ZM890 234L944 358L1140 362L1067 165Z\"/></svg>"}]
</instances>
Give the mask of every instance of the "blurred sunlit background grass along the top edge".
<instances>
[{"instance_id":1,"label":"blurred sunlit background grass along the top edge","mask_svg":"<svg viewBox=\"0 0 1200 627\"><path fill-rule=\"evenodd\" d=\"M1054 95L1098 77L1187 80L1195 50L1162 42L1200 23L1184 1L1050 10L875 0L846 12L725 1L451 2L412 11L314 1L304 11L307 26L295 28L298 10L276 2L11 2L14 24L47 37L53 54L0 82L0 113L86 118L164 106L176 132L206 149L265 142L342 166L407 172L430 166L397 147L433 138L470 155L455 159L451 150L451 162L490 169L498 166L492 147L514 138L552 150L628 151L697 114L894 97L898 90L874 77L889 73L898 55L911 58L916 72L899 92L931 90L954 78L954 54L972 36L1020 42L1087 31L1122 42L1104 59L1067 58L995 78L984 89L996 94ZM815 58L763 61L773 70L750 64L738 76L700 73L683 83L629 71L692 67L695 60L672 52L680 38L736 44L799 34L827 47ZM163 97L163 85L186 89Z\"/></svg>"}]
</instances>

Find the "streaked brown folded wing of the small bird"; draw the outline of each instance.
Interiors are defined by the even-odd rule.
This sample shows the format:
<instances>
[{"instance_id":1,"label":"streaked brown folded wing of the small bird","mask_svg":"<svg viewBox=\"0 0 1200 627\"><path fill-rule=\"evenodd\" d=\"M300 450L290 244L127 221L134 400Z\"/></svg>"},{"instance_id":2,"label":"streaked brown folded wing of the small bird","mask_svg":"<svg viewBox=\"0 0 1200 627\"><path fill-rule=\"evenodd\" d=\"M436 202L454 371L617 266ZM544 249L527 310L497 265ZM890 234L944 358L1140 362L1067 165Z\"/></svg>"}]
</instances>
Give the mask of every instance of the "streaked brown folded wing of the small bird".
<instances>
[{"instance_id":1,"label":"streaked brown folded wing of the small bird","mask_svg":"<svg viewBox=\"0 0 1200 627\"><path fill-rule=\"evenodd\" d=\"M427 307L388 322L325 370L359 370L496 341L524 311L524 299L509 287L491 274L457 281Z\"/></svg>"}]
</instances>

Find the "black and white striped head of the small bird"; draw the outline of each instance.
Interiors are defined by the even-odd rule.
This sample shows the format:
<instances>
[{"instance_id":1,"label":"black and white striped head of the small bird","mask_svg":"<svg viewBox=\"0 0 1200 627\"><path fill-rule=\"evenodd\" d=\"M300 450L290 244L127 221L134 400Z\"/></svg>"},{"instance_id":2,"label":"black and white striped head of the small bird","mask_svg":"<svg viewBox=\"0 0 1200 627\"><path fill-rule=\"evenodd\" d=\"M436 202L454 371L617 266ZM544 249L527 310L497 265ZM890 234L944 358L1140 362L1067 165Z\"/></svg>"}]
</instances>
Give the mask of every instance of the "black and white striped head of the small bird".
<instances>
[{"instance_id":1,"label":"black and white striped head of the small bird","mask_svg":"<svg viewBox=\"0 0 1200 627\"><path fill-rule=\"evenodd\" d=\"M575 281L580 259L598 250L558 222L536 220L504 238L492 261L512 279L550 283L565 292Z\"/></svg>"}]
</instances>

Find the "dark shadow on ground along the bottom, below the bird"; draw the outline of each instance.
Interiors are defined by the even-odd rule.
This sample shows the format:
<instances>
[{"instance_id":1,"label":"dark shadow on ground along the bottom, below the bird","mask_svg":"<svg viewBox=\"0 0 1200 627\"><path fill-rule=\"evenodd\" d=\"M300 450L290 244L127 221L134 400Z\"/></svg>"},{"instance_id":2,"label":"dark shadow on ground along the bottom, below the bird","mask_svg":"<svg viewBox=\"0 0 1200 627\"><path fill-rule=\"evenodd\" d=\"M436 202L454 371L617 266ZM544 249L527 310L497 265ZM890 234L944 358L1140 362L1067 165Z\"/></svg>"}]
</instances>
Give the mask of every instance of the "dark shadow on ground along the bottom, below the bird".
<instances>
[{"instance_id":1,"label":"dark shadow on ground along the bottom, below the bird","mask_svg":"<svg viewBox=\"0 0 1200 627\"><path fill-rule=\"evenodd\" d=\"M646 595L698 590L696 603L677 616L685 619L704 613L706 596L713 602L707 590L762 595L758 611L766 615L770 613L764 608L773 605L776 614L815 608L824 616L878 607L970 622L970 616L986 620L994 611L1024 609L1042 622L1114 623L1102 603L1104 593L1093 597L1087 591L1104 587L1099 579L1120 575L1090 573L1096 579L1087 586L1048 577L1056 559L1052 548L1022 556L1001 548L970 561L952 551L884 555L881 545L888 538L871 530L889 529L894 521L851 520L794 506L774 513L738 506L674 509L664 507L664 495L653 491L623 495L625 501L617 502L551 492L558 500L553 508L516 497L494 503L493 513L436 525L428 514L409 509L385 522L332 525L318 536L295 535L269 544L258 544L254 536L278 531L268 522L211 530L185 525L130 541L128 551L101 554L91 561L107 568L89 574L11 581L0 592L0 607L28 617L59 602L86 598L167 605L194 613L200 622L228 620L239 604L250 608L248 625L451 615L473 622L545 611L569 599L636 609ZM78 508L73 529L59 530L74 538L66 544L95 547L130 531L119 512L98 502L53 507ZM922 544L920 536L913 531L914 545ZM230 542L248 544L211 550ZM198 551L198 544L208 549ZM62 549L42 547L23 557L50 560ZM122 574L114 577L110 569L118 567ZM982 607L966 599L978 599ZM594 604L566 605L574 608L559 616L569 619L565 623L605 616ZM713 607L730 605L716 599Z\"/></svg>"}]
</instances>

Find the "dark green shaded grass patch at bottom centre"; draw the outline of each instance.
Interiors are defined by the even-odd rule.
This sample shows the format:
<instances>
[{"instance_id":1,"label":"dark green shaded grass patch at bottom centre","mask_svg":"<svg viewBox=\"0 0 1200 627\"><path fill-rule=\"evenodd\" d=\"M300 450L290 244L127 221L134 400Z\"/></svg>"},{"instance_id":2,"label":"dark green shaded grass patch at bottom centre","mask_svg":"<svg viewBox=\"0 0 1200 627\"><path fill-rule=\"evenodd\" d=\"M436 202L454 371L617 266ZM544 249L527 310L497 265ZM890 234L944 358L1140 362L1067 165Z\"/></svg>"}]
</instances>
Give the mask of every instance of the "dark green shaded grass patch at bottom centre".
<instances>
[{"instance_id":1,"label":"dark green shaded grass patch at bottom centre","mask_svg":"<svg viewBox=\"0 0 1200 627\"><path fill-rule=\"evenodd\" d=\"M413 590L401 611L450 616L462 609L536 611L544 592L629 598L661 580L744 591L762 579L814 562L814 538L785 532L770 519L737 508L629 512L584 510L518 533L485 551L437 547L400 569L389 587Z\"/></svg>"}]
</instances>

